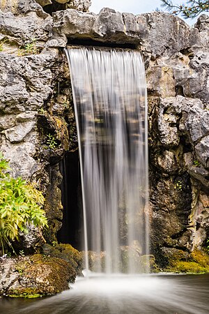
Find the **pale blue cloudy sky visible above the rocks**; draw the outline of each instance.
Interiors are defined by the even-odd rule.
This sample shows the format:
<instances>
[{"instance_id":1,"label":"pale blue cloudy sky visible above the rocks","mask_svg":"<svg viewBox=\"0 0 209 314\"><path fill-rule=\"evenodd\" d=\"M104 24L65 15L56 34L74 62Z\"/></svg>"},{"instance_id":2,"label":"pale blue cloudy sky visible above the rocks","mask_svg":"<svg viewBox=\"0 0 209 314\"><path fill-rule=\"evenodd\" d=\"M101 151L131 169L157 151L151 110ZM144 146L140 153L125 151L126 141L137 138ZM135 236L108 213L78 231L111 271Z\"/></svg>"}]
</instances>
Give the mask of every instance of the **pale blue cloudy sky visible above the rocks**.
<instances>
[{"instance_id":1,"label":"pale blue cloudy sky visible above the rocks","mask_svg":"<svg viewBox=\"0 0 209 314\"><path fill-rule=\"evenodd\" d=\"M186 0L173 0L173 3L185 3ZM148 13L155 11L156 8L164 10L160 6L160 0L91 0L90 11L99 13L102 8L114 8L119 12L133 13L134 15L140 13ZM187 24L194 24L196 19L186 20Z\"/></svg>"}]
</instances>

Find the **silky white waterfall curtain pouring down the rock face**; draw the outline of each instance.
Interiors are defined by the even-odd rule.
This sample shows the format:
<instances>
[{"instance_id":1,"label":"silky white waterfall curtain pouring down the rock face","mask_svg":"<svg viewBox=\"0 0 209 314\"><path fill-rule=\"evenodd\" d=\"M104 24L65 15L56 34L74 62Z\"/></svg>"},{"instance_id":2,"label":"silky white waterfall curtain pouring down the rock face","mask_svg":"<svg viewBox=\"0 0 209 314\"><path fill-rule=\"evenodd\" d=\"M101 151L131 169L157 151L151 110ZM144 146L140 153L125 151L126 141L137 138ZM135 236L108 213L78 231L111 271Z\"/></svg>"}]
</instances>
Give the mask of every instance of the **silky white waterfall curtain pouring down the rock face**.
<instances>
[{"instance_id":1,"label":"silky white waterfall curtain pouring down the rock face","mask_svg":"<svg viewBox=\"0 0 209 314\"><path fill-rule=\"evenodd\" d=\"M86 269L88 251L94 251L94 271L148 271L147 105L141 54L85 47L65 52L79 140Z\"/></svg>"}]
</instances>

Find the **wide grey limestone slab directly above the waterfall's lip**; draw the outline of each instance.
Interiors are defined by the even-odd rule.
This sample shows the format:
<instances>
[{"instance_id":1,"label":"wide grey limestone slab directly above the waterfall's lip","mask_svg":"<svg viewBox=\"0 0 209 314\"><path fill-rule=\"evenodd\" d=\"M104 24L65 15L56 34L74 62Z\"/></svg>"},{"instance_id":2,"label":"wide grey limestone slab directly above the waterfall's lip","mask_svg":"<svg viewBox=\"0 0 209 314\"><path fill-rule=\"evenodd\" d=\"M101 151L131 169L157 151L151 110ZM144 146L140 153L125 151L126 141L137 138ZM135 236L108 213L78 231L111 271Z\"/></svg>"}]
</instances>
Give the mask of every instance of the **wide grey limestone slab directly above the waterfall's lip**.
<instances>
[{"instance_id":1,"label":"wide grey limestone slab directly above the waterfall's lip","mask_svg":"<svg viewBox=\"0 0 209 314\"><path fill-rule=\"evenodd\" d=\"M144 33L132 15L123 15L104 8L99 15L79 13L75 10L54 13L54 33L67 38L91 38L114 43L139 43L140 32ZM127 25L127 26L126 26Z\"/></svg>"}]
</instances>

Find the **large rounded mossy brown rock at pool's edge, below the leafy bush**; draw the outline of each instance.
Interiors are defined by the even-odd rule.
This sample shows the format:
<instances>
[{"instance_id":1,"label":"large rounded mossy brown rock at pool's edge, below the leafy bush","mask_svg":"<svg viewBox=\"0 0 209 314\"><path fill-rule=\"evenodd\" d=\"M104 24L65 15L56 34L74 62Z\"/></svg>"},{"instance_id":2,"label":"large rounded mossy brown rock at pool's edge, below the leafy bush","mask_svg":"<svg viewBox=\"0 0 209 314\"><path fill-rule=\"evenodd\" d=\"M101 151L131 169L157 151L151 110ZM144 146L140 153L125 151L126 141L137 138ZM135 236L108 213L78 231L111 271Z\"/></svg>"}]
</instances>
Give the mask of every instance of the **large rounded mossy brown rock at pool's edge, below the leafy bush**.
<instances>
[{"instance_id":1,"label":"large rounded mossy brown rock at pool's edge, below the leafy bush","mask_svg":"<svg viewBox=\"0 0 209 314\"><path fill-rule=\"evenodd\" d=\"M61 258L35 254L8 260L12 266L6 277L13 278L15 274L15 281L12 284L8 281L8 287L4 288L4 294L9 297L52 295L68 290L68 283L75 281L75 269Z\"/></svg>"}]
</instances>

